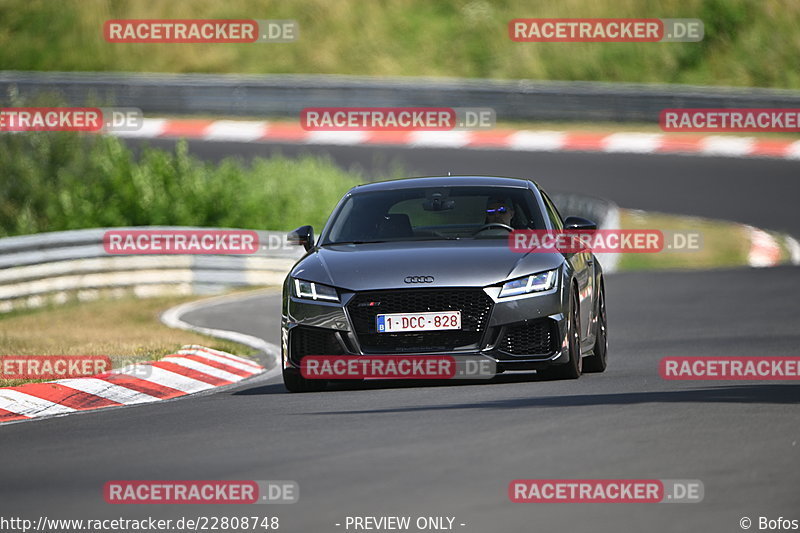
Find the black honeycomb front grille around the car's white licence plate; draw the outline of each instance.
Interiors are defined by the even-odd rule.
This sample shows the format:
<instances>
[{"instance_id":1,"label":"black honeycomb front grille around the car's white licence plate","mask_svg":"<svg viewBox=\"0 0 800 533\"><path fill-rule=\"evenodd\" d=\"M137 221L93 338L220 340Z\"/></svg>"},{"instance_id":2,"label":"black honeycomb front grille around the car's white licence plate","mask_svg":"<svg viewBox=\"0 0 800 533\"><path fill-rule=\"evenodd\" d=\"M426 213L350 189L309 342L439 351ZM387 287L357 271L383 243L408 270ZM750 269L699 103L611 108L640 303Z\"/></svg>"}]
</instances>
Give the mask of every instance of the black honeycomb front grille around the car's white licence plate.
<instances>
[{"instance_id":1,"label":"black honeycomb front grille around the car's white licence plate","mask_svg":"<svg viewBox=\"0 0 800 533\"><path fill-rule=\"evenodd\" d=\"M486 329L492 299L482 289L408 289L356 294L347 304L353 328L366 353L438 352L475 349ZM378 315L461 311L461 329L378 333Z\"/></svg>"}]
</instances>

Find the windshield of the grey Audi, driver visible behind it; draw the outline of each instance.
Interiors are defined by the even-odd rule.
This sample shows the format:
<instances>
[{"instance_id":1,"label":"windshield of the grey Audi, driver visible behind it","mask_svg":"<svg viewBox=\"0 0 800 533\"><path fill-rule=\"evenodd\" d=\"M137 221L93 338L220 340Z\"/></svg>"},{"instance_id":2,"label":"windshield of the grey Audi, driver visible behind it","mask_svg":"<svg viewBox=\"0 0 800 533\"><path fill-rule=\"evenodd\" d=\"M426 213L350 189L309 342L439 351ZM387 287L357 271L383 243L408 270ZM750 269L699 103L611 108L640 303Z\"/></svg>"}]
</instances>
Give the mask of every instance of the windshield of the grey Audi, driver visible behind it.
<instances>
[{"instance_id":1,"label":"windshield of the grey Audi, driver visible behind it","mask_svg":"<svg viewBox=\"0 0 800 533\"><path fill-rule=\"evenodd\" d=\"M506 239L512 229L545 229L528 189L420 187L357 192L334 215L322 245Z\"/></svg>"}]
</instances>

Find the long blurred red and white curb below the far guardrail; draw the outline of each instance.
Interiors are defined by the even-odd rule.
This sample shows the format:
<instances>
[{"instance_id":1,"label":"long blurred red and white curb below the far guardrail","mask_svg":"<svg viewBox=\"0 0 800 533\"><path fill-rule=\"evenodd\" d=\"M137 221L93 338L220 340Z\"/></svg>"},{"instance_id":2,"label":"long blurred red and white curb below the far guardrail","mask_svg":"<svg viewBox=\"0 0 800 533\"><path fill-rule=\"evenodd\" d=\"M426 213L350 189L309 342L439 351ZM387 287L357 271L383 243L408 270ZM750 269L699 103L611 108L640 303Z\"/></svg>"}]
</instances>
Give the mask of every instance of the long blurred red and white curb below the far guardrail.
<instances>
[{"instance_id":1,"label":"long blurred red and white curb below the far guardrail","mask_svg":"<svg viewBox=\"0 0 800 533\"><path fill-rule=\"evenodd\" d=\"M528 152L693 154L800 159L800 141L722 135L536 130L306 131L295 122L146 118L119 137L205 141L388 145L422 148L500 149Z\"/></svg>"}]
</instances>

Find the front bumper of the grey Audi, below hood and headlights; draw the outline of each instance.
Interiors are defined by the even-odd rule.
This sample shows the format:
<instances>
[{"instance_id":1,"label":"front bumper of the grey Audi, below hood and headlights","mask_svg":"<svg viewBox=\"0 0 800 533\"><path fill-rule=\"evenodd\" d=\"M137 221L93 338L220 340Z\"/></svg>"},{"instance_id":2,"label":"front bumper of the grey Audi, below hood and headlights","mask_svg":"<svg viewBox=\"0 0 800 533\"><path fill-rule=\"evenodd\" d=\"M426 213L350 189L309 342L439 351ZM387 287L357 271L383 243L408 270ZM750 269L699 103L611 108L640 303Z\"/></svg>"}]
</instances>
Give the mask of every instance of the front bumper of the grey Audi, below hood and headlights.
<instances>
[{"instance_id":1,"label":"front bumper of the grey Audi, below hood and headlights","mask_svg":"<svg viewBox=\"0 0 800 533\"><path fill-rule=\"evenodd\" d=\"M369 294L340 291L341 302L333 303L297 298L288 281L284 286L282 312L284 369L299 368L307 355L481 356L491 360L498 373L538 370L569 360L565 307L569 300L563 283L546 293L511 298L499 298L500 288L496 286L387 289ZM465 293L485 305L465 300ZM445 335L428 332L376 334L370 317L387 310L404 312L397 307L386 307L402 305L390 298L398 294L404 301L412 302L408 305L417 306L407 309L408 312L447 310L423 309L427 305L467 308L463 321L471 324L471 335L445 339ZM376 307L369 310L370 314L365 307L372 305ZM469 313L474 315L472 322Z\"/></svg>"}]
</instances>

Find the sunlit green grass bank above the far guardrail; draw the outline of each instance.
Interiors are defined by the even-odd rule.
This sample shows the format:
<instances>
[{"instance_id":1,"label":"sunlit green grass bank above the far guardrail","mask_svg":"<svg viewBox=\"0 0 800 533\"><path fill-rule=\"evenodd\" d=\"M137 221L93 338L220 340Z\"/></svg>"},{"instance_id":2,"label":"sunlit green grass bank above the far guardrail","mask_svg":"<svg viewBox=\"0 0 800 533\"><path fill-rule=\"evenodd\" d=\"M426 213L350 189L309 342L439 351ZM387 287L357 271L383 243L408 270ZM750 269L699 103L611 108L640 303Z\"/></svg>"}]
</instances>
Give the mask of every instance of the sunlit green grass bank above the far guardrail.
<instances>
[{"instance_id":1,"label":"sunlit green grass bank above the far guardrail","mask_svg":"<svg viewBox=\"0 0 800 533\"><path fill-rule=\"evenodd\" d=\"M516 43L514 18L699 18L700 43ZM111 44L107 19L294 19L285 44ZM794 0L6 0L4 69L323 73L800 87Z\"/></svg>"}]
</instances>

